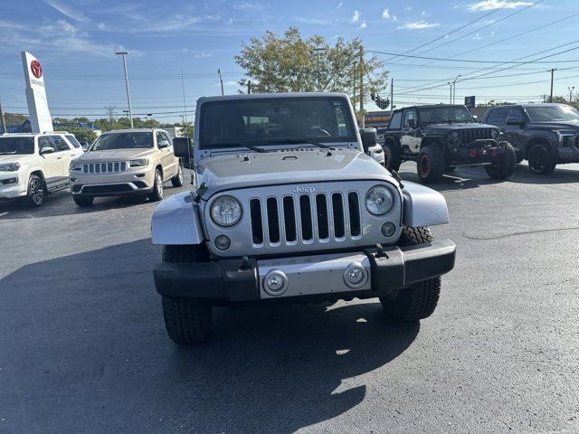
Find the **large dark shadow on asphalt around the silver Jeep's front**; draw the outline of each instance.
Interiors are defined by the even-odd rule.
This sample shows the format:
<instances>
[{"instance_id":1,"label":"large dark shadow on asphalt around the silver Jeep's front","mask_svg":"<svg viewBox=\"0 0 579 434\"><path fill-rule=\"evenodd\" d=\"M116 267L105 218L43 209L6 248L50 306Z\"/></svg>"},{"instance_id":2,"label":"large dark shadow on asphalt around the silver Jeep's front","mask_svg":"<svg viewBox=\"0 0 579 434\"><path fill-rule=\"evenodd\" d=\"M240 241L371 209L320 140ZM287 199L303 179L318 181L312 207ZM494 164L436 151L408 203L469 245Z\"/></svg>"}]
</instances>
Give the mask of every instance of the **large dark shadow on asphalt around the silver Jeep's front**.
<instances>
[{"instance_id":1,"label":"large dark shadow on asphalt around the silver Jeep's front","mask_svg":"<svg viewBox=\"0 0 579 434\"><path fill-rule=\"evenodd\" d=\"M0 274L7 432L294 432L364 401L359 376L420 329L375 300L219 308L211 343L178 347L152 279L159 256L147 239Z\"/></svg>"}]
</instances>

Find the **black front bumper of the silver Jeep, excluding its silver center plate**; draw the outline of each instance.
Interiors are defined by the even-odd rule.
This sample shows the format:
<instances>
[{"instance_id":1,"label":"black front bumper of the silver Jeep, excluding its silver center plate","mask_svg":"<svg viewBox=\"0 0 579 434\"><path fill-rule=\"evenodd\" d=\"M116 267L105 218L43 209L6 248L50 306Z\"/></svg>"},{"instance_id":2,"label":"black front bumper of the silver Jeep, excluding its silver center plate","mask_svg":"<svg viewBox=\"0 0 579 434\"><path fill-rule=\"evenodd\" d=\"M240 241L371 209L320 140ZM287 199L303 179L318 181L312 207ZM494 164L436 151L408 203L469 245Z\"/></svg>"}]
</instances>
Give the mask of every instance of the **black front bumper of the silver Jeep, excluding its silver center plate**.
<instances>
[{"instance_id":1,"label":"black front bumper of the silver Jeep, excluding its silver center plate","mask_svg":"<svg viewBox=\"0 0 579 434\"><path fill-rule=\"evenodd\" d=\"M296 298L336 299L383 297L413 283L441 276L454 268L456 246L452 241L434 241L410 247L389 246L364 250L370 262L371 289L337 290L301 297L276 297L267 301ZM160 263L154 269L157 292L167 297L211 299L215 304L264 301L260 291L257 259L220 259L211 262Z\"/></svg>"}]
</instances>

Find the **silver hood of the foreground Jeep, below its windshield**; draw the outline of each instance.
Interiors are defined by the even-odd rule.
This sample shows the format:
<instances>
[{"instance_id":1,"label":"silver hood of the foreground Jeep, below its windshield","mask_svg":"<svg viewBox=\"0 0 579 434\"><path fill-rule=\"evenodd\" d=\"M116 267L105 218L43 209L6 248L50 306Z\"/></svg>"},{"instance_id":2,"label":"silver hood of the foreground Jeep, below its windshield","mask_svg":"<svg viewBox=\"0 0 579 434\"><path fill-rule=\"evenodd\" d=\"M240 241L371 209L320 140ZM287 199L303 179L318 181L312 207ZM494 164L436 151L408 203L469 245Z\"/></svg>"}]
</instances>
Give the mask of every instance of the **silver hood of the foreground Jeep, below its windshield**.
<instances>
[{"instance_id":1,"label":"silver hood of the foreground Jeep, below its windshield","mask_svg":"<svg viewBox=\"0 0 579 434\"><path fill-rule=\"evenodd\" d=\"M392 175L364 153L353 150L301 150L228 154L201 160L197 185L204 198L223 190L272 184L375 179Z\"/></svg>"}]
</instances>

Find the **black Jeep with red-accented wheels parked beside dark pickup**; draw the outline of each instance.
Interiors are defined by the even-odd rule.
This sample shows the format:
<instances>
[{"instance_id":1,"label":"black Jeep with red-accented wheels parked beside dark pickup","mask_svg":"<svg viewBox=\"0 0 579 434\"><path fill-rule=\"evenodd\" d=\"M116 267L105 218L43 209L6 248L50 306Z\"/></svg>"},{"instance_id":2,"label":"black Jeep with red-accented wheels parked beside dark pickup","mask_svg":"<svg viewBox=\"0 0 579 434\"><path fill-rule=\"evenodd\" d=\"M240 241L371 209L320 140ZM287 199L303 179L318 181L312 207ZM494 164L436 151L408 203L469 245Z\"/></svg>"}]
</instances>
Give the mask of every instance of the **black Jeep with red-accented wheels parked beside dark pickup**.
<instances>
[{"instance_id":1,"label":"black Jeep with red-accented wheels parked beside dark pickup","mask_svg":"<svg viewBox=\"0 0 579 434\"><path fill-rule=\"evenodd\" d=\"M517 160L498 127L475 122L469 109L452 104L394 110L383 147L387 169L415 161L422 183L435 183L458 165L484 165L491 178L506 179Z\"/></svg>"}]
</instances>

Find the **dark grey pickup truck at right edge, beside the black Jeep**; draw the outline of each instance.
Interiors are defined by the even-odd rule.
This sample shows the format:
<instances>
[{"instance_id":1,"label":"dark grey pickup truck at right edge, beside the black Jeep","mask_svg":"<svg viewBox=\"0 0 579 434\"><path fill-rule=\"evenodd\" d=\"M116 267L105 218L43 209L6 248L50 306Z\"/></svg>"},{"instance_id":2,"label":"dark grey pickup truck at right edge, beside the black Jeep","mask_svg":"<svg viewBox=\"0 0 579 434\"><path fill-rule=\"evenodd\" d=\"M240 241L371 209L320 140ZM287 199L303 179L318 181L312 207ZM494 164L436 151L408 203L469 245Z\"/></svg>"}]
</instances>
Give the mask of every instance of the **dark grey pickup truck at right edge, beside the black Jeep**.
<instances>
[{"instance_id":1,"label":"dark grey pickup truck at right edge, beside the black Jeep","mask_svg":"<svg viewBox=\"0 0 579 434\"><path fill-rule=\"evenodd\" d=\"M519 104L489 109L484 122L496 125L533 174L579 162L579 111L565 104Z\"/></svg>"}]
</instances>

